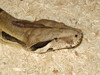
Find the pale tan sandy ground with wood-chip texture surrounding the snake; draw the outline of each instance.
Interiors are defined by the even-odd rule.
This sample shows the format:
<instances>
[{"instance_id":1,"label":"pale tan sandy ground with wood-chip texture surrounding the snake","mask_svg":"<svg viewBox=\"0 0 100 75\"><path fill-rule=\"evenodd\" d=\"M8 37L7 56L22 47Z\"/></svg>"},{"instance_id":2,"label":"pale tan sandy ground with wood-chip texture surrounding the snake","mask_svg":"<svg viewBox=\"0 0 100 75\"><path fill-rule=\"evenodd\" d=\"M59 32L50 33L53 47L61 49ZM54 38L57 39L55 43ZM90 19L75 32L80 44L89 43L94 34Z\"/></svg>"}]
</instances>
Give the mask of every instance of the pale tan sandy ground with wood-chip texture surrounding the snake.
<instances>
[{"instance_id":1,"label":"pale tan sandy ground with wood-chip texture surrounding the snake","mask_svg":"<svg viewBox=\"0 0 100 75\"><path fill-rule=\"evenodd\" d=\"M80 28L75 49L35 54L0 44L0 75L100 75L100 0L0 0L18 19L51 19Z\"/></svg>"}]
</instances>

